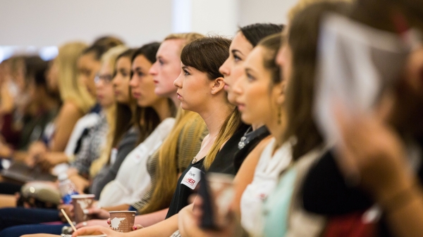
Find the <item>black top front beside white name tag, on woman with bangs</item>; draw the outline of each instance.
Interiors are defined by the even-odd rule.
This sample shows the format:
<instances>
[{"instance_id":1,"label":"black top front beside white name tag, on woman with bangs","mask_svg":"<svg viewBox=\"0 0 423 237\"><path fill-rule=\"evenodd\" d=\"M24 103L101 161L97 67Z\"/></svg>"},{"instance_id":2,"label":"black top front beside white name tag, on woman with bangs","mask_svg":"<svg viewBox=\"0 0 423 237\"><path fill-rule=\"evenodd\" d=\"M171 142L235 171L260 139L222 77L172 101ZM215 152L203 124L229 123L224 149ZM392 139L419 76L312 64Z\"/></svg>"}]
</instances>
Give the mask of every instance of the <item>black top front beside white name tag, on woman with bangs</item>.
<instances>
[{"instance_id":1,"label":"black top front beside white name tag, on woman with bangs","mask_svg":"<svg viewBox=\"0 0 423 237\"><path fill-rule=\"evenodd\" d=\"M185 184L180 184L183 181L183 178L185 175L190 171L192 167L195 167L197 169L200 169L202 172L204 172L204 158L201 160L195 162L194 164L190 164L182 174L180 174L180 177L178 179L178 184L176 185L175 193L173 193L173 198L171 201L171 205L169 206L168 213L166 214L166 219L173 216L174 214L177 214L183 207L188 205L188 198L192 193L194 193L194 190L189 188L188 186L185 186Z\"/></svg>"}]
</instances>

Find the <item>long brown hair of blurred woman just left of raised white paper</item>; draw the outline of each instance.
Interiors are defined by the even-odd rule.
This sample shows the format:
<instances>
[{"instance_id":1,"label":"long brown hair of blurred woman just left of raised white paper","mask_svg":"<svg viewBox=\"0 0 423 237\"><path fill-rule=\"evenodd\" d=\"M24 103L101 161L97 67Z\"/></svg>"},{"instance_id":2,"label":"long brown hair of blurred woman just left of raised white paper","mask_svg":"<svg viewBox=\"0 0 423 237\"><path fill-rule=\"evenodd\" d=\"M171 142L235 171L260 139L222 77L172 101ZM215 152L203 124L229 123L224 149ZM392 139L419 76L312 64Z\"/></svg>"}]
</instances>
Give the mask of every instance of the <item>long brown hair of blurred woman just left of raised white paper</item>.
<instances>
[{"instance_id":1,"label":"long brown hair of blurred woman just left of raised white paper","mask_svg":"<svg viewBox=\"0 0 423 237\"><path fill-rule=\"evenodd\" d=\"M321 16L326 11L348 13L346 2L319 2L298 12L290 23L288 45L292 52L292 75L286 89L286 132L283 141L295 136L293 160L319 146L322 136L312 119L314 70ZM283 68L282 68L283 70Z\"/></svg>"}]
</instances>

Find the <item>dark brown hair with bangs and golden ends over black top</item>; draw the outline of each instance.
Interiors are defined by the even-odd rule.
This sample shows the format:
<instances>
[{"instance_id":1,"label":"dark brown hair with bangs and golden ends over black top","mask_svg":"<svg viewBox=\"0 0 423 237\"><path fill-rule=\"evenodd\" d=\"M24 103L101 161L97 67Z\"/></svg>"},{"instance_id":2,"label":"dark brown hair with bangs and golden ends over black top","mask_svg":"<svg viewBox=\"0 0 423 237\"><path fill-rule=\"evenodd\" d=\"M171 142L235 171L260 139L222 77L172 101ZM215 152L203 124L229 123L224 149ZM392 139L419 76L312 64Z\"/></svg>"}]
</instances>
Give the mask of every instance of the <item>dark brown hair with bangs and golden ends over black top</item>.
<instances>
[{"instance_id":1,"label":"dark brown hair with bangs and golden ends over black top","mask_svg":"<svg viewBox=\"0 0 423 237\"><path fill-rule=\"evenodd\" d=\"M200 72L206 72L209 79L223 77L219 68L229 56L231 40L222 37L204 37L187 44L180 54L183 65L191 66ZM227 100L227 98L226 98ZM226 101L229 103L229 101ZM233 121L231 116L223 122L216 141L204 160L204 167L208 169L221 146L227 141L238 128L239 121Z\"/></svg>"}]
</instances>

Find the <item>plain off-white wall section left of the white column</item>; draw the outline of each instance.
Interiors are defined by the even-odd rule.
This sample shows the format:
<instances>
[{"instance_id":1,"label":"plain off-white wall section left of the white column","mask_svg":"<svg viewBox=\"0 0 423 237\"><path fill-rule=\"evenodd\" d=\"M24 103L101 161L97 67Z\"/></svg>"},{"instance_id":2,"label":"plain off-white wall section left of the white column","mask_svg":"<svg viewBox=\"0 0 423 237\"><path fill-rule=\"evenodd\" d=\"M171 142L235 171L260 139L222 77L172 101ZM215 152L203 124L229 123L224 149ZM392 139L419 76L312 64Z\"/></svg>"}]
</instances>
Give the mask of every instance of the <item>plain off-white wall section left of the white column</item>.
<instances>
[{"instance_id":1,"label":"plain off-white wall section left of the white column","mask_svg":"<svg viewBox=\"0 0 423 237\"><path fill-rule=\"evenodd\" d=\"M0 45L49 46L116 34L130 46L171 32L171 0L1 0Z\"/></svg>"}]
</instances>

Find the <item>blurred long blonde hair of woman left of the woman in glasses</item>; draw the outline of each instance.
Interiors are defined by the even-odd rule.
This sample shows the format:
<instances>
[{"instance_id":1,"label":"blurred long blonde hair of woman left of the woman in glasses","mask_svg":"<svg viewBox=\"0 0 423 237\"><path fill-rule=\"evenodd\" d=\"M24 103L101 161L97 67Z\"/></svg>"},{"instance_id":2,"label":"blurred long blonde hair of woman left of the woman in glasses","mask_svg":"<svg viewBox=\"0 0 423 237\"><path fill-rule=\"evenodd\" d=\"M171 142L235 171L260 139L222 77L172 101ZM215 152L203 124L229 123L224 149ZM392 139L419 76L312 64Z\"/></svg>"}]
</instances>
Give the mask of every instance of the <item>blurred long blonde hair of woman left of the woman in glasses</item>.
<instances>
[{"instance_id":1,"label":"blurred long blonde hair of woman left of the woman in glasses","mask_svg":"<svg viewBox=\"0 0 423 237\"><path fill-rule=\"evenodd\" d=\"M54 59L59 68L59 91L61 100L72 101L83 113L94 105L94 98L87 89L78 82L78 58L87 45L82 42L71 42L59 48L59 55Z\"/></svg>"}]
</instances>

